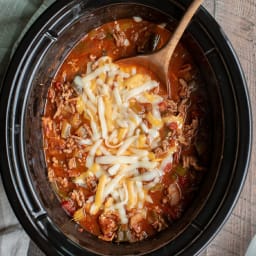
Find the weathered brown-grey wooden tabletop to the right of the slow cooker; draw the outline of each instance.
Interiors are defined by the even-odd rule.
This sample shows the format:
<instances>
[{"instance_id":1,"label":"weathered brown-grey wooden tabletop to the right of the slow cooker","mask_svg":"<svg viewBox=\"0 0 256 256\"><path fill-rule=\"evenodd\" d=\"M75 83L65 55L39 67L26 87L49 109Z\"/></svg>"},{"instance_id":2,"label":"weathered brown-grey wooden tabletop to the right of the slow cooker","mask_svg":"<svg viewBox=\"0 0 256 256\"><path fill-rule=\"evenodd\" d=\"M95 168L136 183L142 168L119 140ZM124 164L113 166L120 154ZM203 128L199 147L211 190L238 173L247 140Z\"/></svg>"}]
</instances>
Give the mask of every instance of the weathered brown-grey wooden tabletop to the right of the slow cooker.
<instances>
[{"instance_id":1,"label":"weathered brown-grey wooden tabletop to the right of the slow cooker","mask_svg":"<svg viewBox=\"0 0 256 256\"><path fill-rule=\"evenodd\" d=\"M206 9L230 39L247 79L253 116L256 113L256 0L206 0ZM255 131L255 122L253 124ZM244 255L256 234L256 147L240 199L229 220L200 256ZM256 255L256 252L255 252Z\"/></svg>"}]
</instances>

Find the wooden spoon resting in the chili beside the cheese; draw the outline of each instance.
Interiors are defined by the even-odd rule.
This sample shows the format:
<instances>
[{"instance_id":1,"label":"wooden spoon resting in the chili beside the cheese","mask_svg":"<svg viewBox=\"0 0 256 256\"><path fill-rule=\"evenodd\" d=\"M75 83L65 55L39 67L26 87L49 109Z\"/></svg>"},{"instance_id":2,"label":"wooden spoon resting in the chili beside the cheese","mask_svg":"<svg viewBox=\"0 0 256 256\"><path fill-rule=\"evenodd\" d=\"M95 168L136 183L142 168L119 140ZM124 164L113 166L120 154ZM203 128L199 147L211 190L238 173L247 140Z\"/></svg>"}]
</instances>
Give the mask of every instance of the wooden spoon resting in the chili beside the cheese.
<instances>
[{"instance_id":1,"label":"wooden spoon resting in the chili beside the cheese","mask_svg":"<svg viewBox=\"0 0 256 256\"><path fill-rule=\"evenodd\" d=\"M170 60L178 42L180 41L180 38L202 2L203 0L192 1L169 42L162 49L151 54L120 59L117 61L117 63L139 65L153 71L158 76L160 81L166 85L168 96L171 97L171 85L168 79Z\"/></svg>"}]
</instances>

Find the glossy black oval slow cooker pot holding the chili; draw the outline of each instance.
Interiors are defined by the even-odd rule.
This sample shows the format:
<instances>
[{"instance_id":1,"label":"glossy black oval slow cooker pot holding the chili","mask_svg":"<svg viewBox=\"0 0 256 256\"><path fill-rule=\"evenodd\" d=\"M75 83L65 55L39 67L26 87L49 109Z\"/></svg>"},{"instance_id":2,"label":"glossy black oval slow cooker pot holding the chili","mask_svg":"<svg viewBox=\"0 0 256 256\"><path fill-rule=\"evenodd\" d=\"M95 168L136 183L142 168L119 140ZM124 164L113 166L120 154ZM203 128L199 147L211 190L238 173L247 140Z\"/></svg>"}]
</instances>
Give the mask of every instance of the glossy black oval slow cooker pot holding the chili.
<instances>
[{"instance_id":1,"label":"glossy black oval slow cooker pot holding the chili","mask_svg":"<svg viewBox=\"0 0 256 256\"><path fill-rule=\"evenodd\" d=\"M174 0L57 1L19 45L0 95L1 171L13 210L47 255L199 254L230 215L247 173L251 111L234 51L203 8L184 42L192 49L210 96L212 163L195 204L184 217L154 238L113 245L77 232L47 181L41 117L47 89L68 52L88 30L109 20L140 15L173 24L187 4Z\"/></svg>"}]
</instances>

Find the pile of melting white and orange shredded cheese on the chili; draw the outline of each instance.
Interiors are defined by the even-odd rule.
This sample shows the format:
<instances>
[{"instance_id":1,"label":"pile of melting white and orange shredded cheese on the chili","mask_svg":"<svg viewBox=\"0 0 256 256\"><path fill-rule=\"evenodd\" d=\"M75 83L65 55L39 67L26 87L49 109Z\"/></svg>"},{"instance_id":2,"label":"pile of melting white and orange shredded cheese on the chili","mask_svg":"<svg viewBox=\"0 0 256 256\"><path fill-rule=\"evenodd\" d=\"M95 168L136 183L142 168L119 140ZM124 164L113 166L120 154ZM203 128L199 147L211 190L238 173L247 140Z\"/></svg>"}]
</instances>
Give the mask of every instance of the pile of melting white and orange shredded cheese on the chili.
<instances>
[{"instance_id":1,"label":"pile of melting white and orange shredded cheese on the chili","mask_svg":"<svg viewBox=\"0 0 256 256\"><path fill-rule=\"evenodd\" d=\"M87 171L76 182L83 185L88 175L95 175L99 181L90 198L90 213L115 210L121 223L127 224L127 211L153 203L148 190L160 182L177 151L175 144L167 157L156 158L153 149L160 145L160 130L170 122L182 128L183 118L162 117L158 104L163 98L152 92L159 83L136 67L119 67L107 56L90 63L84 77L75 77L74 85L81 92L77 112L88 120L92 133L77 138L80 145L87 145L88 155ZM132 108L136 102L152 108L137 111Z\"/></svg>"}]
</instances>

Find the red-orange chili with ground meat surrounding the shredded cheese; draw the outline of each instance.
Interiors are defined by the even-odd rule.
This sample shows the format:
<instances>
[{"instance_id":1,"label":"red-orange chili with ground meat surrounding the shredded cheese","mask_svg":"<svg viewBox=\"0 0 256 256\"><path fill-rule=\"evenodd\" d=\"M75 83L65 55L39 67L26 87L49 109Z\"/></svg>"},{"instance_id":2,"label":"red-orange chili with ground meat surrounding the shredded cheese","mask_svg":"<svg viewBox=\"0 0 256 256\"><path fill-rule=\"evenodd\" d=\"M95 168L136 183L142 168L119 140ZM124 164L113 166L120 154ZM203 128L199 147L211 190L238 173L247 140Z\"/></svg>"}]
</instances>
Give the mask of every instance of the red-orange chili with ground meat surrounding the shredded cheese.
<instances>
[{"instance_id":1,"label":"red-orange chili with ground meat surrounding the shredded cheese","mask_svg":"<svg viewBox=\"0 0 256 256\"><path fill-rule=\"evenodd\" d=\"M88 128L88 116L79 110L79 95L72 87L73 80L78 75L83 77L88 63L94 63L102 56L109 56L115 61L157 50L170 36L163 26L144 20L138 22L131 18L104 24L85 35L72 49L48 91L42 123L49 181L54 184L66 212L84 230L106 241L135 242L152 236L180 218L193 202L193 195L196 195L208 166L210 129L206 125L207 101L199 86L202 81L198 68L189 51L179 44L169 69L171 99L163 85L158 91L158 95L165 99L159 104L161 116L165 118L172 113L175 118L159 131L164 140L153 153L161 158L166 154L166 147L175 147L177 140L179 146L171 161L164 166L161 181L147 191L150 199L144 206L148 211L142 213L136 208L126 209L128 222L122 224L115 212L100 210L97 214L90 214L99 178L97 175L86 176L86 159L91 146L79 144L76 140L91 130ZM152 71L136 68L137 73L146 73L156 79ZM132 105L135 113L151 108L150 104ZM184 119L182 129L177 121L179 116ZM139 169L140 175L144 169ZM85 183L74 183L79 176ZM147 187L147 182L144 185ZM111 199L104 202L105 205L111 203Z\"/></svg>"}]
</instances>

